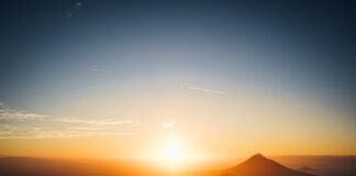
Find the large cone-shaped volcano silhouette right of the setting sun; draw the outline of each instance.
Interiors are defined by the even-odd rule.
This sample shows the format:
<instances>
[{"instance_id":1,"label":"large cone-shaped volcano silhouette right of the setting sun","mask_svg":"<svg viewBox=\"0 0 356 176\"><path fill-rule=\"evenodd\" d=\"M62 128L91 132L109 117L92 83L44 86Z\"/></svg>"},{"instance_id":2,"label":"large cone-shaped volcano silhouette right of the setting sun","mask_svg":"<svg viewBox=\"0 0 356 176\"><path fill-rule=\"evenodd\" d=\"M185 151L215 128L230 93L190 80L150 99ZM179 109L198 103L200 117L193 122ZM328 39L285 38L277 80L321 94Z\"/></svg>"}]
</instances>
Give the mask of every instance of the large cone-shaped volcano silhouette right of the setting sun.
<instances>
[{"instance_id":1,"label":"large cone-shaped volcano silhouette right of the setting sun","mask_svg":"<svg viewBox=\"0 0 356 176\"><path fill-rule=\"evenodd\" d=\"M223 172L224 176L314 176L288 168L262 154Z\"/></svg>"}]
</instances>

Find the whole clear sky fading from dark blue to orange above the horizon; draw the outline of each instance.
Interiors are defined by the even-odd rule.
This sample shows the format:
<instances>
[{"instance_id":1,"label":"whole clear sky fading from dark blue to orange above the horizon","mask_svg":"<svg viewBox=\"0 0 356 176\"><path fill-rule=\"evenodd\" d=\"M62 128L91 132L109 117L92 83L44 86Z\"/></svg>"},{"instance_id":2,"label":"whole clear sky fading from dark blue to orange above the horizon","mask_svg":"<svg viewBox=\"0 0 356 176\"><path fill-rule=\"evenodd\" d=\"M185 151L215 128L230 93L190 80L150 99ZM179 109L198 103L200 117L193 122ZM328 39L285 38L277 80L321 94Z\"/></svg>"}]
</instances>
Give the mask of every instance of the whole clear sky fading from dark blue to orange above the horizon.
<instances>
[{"instance_id":1,"label":"whole clear sky fading from dark blue to orange above the horizon","mask_svg":"<svg viewBox=\"0 0 356 176\"><path fill-rule=\"evenodd\" d=\"M1 155L356 154L351 1L0 3Z\"/></svg>"}]
</instances>

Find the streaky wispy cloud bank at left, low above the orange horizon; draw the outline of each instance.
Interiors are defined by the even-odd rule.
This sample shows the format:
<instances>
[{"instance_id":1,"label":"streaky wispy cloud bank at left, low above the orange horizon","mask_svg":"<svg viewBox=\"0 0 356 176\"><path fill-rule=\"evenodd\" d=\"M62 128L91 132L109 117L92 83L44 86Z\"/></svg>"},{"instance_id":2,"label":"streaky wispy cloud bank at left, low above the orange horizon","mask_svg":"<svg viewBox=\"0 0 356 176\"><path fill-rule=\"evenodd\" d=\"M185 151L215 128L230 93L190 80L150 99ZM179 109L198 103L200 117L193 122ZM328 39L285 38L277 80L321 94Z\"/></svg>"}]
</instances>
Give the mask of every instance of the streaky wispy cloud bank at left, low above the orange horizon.
<instances>
[{"instance_id":1,"label":"streaky wispy cloud bank at left, low above the orange horizon","mask_svg":"<svg viewBox=\"0 0 356 176\"><path fill-rule=\"evenodd\" d=\"M133 120L37 114L10 109L0 102L0 139L134 135L137 125Z\"/></svg>"}]
</instances>

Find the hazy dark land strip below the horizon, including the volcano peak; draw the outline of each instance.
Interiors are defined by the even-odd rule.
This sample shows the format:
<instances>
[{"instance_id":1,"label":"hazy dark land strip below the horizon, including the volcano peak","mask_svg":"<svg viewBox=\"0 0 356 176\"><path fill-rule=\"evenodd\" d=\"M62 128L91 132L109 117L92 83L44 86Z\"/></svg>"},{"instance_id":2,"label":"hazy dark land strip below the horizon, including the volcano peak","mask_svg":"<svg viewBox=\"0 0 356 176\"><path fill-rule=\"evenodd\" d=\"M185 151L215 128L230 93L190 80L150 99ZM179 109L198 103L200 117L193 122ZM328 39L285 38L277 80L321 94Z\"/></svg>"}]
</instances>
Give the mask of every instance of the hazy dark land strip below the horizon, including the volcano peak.
<instances>
[{"instance_id":1,"label":"hazy dark land strip below the horizon, including the volcano peak","mask_svg":"<svg viewBox=\"0 0 356 176\"><path fill-rule=\"evenodd\" d=\"M290 169L257 154L224 170L180 170L175 176L355 176L356 156L294 156L291 161L276 160L291 168L307 165L311 174ZM288 164L289 163L289 164ZM131 160L55 160L31 157L0 157L2 176L167 176L170 170L152 167L149 163Z\"/></svg>"}]
</instances>

